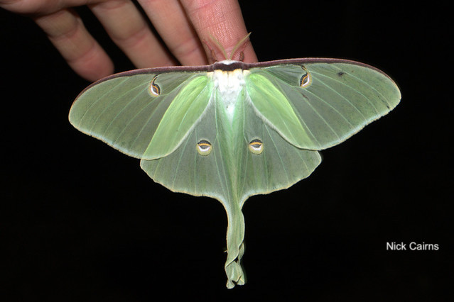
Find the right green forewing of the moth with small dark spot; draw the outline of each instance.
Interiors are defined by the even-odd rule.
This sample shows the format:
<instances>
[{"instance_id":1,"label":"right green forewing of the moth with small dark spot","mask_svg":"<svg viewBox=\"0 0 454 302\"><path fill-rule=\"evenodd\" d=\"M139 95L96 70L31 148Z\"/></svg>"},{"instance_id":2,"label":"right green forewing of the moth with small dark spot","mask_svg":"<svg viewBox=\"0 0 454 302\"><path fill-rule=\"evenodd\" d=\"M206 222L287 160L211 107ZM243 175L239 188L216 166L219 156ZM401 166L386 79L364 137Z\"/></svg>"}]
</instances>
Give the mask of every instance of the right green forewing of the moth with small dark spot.
<instances>
[{"instance_id":1,"label":"right green forewing of the moth with small dark spot","mask_svg":"<svg viewBox=\"0 0 454 302\"><path fill-rule=\"evenodd\" d=\"M343 142L401 99L386 74L358 62L313 60L251 73L247 91L254 106L289 142L304 149L323 150ZM277 106L288 108L286 116Z\"/></svg>"}]
</instances>

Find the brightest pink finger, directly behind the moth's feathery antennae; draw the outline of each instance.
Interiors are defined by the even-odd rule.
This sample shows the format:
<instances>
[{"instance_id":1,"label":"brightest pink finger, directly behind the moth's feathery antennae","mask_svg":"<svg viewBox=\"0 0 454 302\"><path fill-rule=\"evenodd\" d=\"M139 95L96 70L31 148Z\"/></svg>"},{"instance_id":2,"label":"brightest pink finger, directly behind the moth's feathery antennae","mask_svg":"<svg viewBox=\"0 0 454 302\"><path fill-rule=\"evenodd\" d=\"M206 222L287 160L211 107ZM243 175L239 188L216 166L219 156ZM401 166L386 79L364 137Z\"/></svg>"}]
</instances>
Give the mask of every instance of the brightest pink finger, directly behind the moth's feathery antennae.
<instances>
[{"instance_id":1,"label":"brightest pink finger, directly behind the moth's feathery antennae","mask_svg":"<svg viewBox=\"0 0 454 302\"><path fill-rule=\"evenodd\" d=\"M193 23L195 31L201 40L212 42L212 35L225 48L227 55L239 60L239 52L231 53L237 43L247 35L241 9L237 0L181 0L188 18ZM218 47L212 47L217 55L217 60L224 58ZM244 62L257 62L257 57L252 44L247 41L244 48L239 47L244 53ZM211 50L207 50L207 53Z\"/></svg>"}]
</instances>

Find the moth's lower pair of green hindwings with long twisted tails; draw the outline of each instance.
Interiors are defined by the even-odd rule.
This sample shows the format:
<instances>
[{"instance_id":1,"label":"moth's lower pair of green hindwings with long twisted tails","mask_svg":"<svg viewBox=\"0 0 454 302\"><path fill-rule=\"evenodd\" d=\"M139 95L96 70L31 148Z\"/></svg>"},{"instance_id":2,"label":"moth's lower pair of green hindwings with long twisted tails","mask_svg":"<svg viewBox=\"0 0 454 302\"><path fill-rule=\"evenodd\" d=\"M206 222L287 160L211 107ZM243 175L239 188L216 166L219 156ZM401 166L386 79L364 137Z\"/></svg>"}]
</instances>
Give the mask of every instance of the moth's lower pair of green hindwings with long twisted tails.
<instances>
[{"instance_id":1,"label":"moth's lower pair of green hindwings with long twisted tails","mask_svg":"<svg viewBox=\"0 0 454 302\"><path fill-rule=\"evenodd\" d=\"M158 160L141 160L141 167L172 191L210 196L225 206L228 221L225 270L227 287L232 288L245 282L240 265L244 252L241 211L244 201L308 177L321 158L318 152L289 145L256 116L243 96L237 101L232 125L220 96L216 99L175 152ZM196 150L200 142L210 147L210 154Z\"/></svg>"}]
</instances>

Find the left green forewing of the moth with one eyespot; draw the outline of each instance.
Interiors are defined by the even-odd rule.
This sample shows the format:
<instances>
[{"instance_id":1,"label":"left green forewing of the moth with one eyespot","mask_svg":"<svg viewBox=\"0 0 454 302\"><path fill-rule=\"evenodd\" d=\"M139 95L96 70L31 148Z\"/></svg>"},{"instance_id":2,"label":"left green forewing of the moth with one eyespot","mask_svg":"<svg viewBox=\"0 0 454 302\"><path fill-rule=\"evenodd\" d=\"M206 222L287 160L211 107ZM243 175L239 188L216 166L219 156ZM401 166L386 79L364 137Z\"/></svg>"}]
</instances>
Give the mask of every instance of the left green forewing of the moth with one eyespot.
<instances>
[{"instance_id":1,"label":"left green forewing of the moth with one eyespot","mask_svg":"<svg viewBox=\"0 0 454 302\"><path fill-rule=\"evenodd\" d=\"M72 105L70 123L132 157L152 159L170 153L207 106L210 87L200 74L172 72L156 77L157 72L124 72L92 84ZM198 106L188 111L185 106L191 100ZM172 123L175 118L181 123ZM173 135L163 138L169 132ZM154 137L161 139L150 145Z\"/></svg>"}]
</instances>

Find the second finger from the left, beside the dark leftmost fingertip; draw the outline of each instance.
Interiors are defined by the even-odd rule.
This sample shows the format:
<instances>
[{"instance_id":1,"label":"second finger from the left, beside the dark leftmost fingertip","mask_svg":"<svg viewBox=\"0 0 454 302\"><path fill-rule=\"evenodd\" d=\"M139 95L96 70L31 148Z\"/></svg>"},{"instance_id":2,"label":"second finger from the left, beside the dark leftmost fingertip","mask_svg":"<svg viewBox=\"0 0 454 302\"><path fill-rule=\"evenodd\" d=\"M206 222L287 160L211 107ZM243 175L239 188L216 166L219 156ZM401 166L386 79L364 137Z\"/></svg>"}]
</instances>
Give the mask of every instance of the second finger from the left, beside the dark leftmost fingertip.
<instances>
[{"instance_id":1,"label":"second finger from the left, beside the dark leftmost fingertip","mask_svg":"<svg viewBox=\"0 0 454 302\"><path fill-rule=\"evenodd\" d=\"M136 67L176 64L131 1L104 1L90 5L90 9Z\"/></svg>"}]
</instances>

